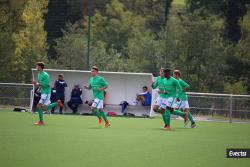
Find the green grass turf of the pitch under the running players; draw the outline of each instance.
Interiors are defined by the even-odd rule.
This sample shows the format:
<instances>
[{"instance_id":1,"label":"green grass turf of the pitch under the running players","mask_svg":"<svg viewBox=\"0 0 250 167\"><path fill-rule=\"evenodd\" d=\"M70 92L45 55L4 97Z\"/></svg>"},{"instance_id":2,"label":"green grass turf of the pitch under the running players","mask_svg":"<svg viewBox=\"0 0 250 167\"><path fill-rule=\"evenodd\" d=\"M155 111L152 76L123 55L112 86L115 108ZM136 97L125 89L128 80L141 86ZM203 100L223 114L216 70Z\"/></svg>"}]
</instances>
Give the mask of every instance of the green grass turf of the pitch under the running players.
<instances>
[{"instance_id":1,"label":"green grass turf of the pitch under the running players","mask_svg":"<svg viewBox=\"0 0 250 167\"><path fill-rule=\"evenodd\" d=\"M250 148L250 124L198 122L161 129L159 118L110 118L100 128L93 116L37 115L0 111L1 167L218 167L249 166L250 159L226 159L226 148Z\"/></svg>"}]
</instances>

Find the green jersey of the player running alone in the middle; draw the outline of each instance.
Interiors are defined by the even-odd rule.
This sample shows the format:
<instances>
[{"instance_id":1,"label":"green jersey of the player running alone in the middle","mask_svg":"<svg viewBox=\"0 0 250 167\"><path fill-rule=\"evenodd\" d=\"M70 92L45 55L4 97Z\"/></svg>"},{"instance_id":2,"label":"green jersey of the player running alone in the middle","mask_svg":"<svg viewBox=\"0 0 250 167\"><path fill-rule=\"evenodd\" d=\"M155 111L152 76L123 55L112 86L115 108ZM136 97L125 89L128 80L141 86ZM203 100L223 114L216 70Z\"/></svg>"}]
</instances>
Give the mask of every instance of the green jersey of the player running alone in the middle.
<instances>
[{"instance_id":1,"label":"green jersey of the player running alone in the middle","mask_svg":"<svg viewBox=\"0 0 250 167\"><path fill-rule=\"evenodd\" d=\"M108 83L101 76L91 77L89 80L89 88L93 90L93 95L95 99L104 99L104 90L98 91L101 87L108 87Z\"/></svg>"}]
</instances>

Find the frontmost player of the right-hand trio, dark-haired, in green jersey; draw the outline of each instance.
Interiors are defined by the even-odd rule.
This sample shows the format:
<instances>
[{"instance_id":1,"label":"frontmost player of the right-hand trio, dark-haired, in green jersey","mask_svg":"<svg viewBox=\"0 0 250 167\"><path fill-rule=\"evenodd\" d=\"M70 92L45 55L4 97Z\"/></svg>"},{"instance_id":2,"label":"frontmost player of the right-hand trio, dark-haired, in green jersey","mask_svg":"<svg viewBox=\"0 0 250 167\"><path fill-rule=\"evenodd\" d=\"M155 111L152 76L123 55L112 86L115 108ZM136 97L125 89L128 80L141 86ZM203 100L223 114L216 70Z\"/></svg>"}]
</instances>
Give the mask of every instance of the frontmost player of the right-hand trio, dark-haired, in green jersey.
<instances>
[{"instance_id":1,"label":"frontmost player of the right-hand trio, dark-haired, in green jersey","mask_svg":"<svg viewBox=\"0 0 250 167\"><path fill-rule=\"evenodd\" d=\"M182 88L179 84L179 82L173 78L170 75L171 70L170 69L165 69L164 70L164 75L165 75L165 80L164 80L164 93L166 94L166 113L165 113L165 119L166 119L166 124L165 124L165 129L166 130L171 130L170 128L170 113L174 115L179 115L185 118L185 121L187 120L187 116L185 116L181 111L179 110L174 110L175 108L175 102L180 101L179 99L179 93L182 91Z\"/></svg>"}]
</instances>

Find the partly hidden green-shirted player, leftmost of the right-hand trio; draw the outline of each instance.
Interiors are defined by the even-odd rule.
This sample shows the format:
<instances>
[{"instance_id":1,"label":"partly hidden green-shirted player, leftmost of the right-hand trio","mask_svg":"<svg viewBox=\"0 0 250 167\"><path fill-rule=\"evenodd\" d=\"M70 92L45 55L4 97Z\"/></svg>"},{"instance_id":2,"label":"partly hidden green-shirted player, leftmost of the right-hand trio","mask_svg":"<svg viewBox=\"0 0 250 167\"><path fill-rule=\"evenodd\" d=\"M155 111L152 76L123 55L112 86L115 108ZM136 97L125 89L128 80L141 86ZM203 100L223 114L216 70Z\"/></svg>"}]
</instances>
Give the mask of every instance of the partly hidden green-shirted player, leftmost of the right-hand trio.
<instances>
[{"instance_id":1,"label":"partly hidden green-shirted player, leftmost of the right-hand trio","mask_svg":"<svg viewBox=\"0 0 250 167\"><path fill-rule=\"evenodd\" d=\"M155 100L155 104L153 106L154 112L161 113L162 119L164 121L165 126L167 125L167 116L166 116L166 97L167 95L164 93L164 68L160 69L160 76L156 78L156 81L152 83L152 88L156 89L158 88L158 94L159 96Z\"/></svg>"}]
</instances>

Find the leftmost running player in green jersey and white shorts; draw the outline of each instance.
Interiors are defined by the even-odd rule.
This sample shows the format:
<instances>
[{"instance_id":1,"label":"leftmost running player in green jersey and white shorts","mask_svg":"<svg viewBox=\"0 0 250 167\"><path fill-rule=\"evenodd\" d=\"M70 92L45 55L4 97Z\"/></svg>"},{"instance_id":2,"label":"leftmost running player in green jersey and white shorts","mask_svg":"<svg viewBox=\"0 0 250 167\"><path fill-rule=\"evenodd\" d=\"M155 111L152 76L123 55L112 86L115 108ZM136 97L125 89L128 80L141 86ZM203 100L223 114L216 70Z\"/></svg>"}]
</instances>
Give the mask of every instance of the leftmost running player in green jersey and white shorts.
<instances>
[{"instance_id":1,"label":"leftmost running player in green jersey and white shorts","mask_svg":"<svg viewBox=\"0 0 250 167\"><path fill-rule=\"evenodd\" d=\"M50 104L50 76L46 73L44 69L44 63L36 63L36 69L38 71L38 81L33 81L35 87L39 87L41 92L41 99L37 104L37 112L39 115L39 121L35 125L44 125L43 121L43 111L51 110L53 107L62 107L63 104L60 100L55 103Z\"/></svg>"}]
</instances>

